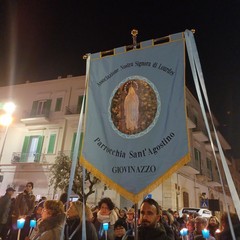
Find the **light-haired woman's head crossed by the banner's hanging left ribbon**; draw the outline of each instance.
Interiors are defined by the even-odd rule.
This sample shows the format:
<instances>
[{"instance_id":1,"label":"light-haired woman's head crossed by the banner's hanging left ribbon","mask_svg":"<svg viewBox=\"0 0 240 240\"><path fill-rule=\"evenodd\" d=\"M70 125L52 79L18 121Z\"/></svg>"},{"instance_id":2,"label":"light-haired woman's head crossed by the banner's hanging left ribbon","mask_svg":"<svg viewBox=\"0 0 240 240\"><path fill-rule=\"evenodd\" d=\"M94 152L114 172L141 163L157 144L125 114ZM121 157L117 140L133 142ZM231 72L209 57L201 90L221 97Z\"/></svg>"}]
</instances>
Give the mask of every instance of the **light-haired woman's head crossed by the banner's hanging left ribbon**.
<instances>
[{"instance_id":1,"label":"light-haired woman's head crossed by the banner's hanging left ribbon","mask_svg":"<svg viewBox=\"0 0 240 240\"><path fill-rule=\"evenodd\" d=\"M82 222L82 214L83 214L83 204L80 201L70 202L69 208L66 212L67 218L79 218L80 222ZM91 221L93 218L93 214L91 209L85 205L85 216L87 221Z\"/></svg>"}]
</instances>

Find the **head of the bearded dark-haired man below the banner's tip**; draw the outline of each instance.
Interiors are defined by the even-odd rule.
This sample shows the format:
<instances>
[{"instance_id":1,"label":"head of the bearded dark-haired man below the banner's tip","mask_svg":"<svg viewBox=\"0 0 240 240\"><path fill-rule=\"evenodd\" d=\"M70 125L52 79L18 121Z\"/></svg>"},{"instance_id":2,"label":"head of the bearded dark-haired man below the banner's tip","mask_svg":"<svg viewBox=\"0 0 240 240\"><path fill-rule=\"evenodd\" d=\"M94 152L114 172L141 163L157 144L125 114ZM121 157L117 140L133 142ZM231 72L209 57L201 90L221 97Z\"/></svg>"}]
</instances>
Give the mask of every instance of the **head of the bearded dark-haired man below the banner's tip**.
<instances>
[{"instance_id":1,"label":"head of the bearded dark-haired man below the banner's tip","mask_svg":"<svg viewBox=\"0 0 240 240\"><path fill-rule=\"evenodd\" d=\"M152 199L144 199L140 206L140 224L143 227L154 228L160 220L160 207L158 203Z\"/></svg>"}]
</instances>

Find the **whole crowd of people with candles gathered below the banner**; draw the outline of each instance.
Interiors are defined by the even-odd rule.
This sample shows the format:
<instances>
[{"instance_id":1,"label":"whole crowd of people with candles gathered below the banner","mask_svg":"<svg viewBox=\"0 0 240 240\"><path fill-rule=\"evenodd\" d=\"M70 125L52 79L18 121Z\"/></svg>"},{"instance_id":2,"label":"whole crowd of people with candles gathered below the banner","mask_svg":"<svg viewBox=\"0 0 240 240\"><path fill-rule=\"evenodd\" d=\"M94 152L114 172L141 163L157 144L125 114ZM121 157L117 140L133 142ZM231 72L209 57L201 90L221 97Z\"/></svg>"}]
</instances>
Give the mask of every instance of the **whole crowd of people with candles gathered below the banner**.
<instances>
[{"instance_id":1,"label":"whole crowd of people with candles gathered below the banner","mask_svg":"<svg viewBox=\"0 0 240 240\"><path fill-rule=\"evenodd\" d=\"M209 240L231 240L229 215L222 214L206 219L196 213L183 214L163 210L152 198L146 198L140 208L119 209L110 198L102 198L95 207L81 201L68 202L63 194L59 200L46 198L35 201L33 183L15 199L14 189L9 187L0 198L0 237L2 240L17 240L17 219L24 218L21 240L180 240L181 230L187 229L186 240L202 240L202 230L209 231ZM85 214L83 214L85 212ZM30 228L30 221L36 227ZM240 224L236 215L231 215L237 237ZM84 238L85 236L85 238ZM238 238L237 238L238 239Z\"/></svg>"}]
</instances>

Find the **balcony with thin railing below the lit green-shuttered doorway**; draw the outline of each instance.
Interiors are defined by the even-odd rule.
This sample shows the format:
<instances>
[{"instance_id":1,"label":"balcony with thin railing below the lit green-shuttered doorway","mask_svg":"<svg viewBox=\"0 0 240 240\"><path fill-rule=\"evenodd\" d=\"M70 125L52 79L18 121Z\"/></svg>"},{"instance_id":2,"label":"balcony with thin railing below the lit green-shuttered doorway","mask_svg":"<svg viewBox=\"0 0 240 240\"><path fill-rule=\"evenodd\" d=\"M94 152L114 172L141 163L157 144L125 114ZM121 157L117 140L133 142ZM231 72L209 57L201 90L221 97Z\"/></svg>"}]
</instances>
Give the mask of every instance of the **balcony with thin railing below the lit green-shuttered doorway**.
<instances>
[{"instance_id":1,"label":"balcony with thin railing below the lit green-shuttered doorway","mask_svg":"<svg viewBox=\"0 0 240 240\"><path fill-rule=\"evenodd\" d=\"M22 152L13 152L11 163L46 163L46 156L43 153L22 153Z\"/></svg>"}]
</instances>

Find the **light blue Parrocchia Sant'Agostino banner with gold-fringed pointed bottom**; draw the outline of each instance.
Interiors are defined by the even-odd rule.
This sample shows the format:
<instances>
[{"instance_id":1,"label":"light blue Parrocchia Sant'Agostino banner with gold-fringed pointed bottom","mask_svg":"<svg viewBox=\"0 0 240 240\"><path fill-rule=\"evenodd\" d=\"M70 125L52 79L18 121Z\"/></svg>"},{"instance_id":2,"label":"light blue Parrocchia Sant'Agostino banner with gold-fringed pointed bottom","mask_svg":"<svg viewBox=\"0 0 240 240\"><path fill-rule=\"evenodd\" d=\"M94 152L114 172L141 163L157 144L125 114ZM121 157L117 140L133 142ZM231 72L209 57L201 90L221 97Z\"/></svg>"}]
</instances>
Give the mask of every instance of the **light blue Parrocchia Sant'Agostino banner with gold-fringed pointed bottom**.
<instances>
[{"instance_id":1,"label":"light blue Parrocchia Sant'Agostino banner with gold-fringed pointed bottom","mask_svg":"<svg viewBox=\"0 0 240 240\"><path fill-rule=\"evenodd\" d=\"M89 56L81 164L137 203L189 161L183 33Z\"/></svg>"}]
</instances>

